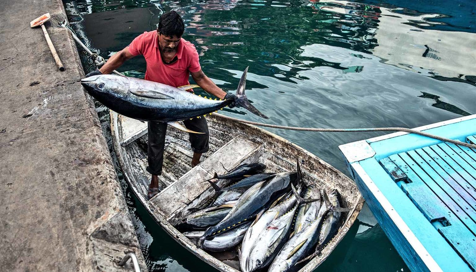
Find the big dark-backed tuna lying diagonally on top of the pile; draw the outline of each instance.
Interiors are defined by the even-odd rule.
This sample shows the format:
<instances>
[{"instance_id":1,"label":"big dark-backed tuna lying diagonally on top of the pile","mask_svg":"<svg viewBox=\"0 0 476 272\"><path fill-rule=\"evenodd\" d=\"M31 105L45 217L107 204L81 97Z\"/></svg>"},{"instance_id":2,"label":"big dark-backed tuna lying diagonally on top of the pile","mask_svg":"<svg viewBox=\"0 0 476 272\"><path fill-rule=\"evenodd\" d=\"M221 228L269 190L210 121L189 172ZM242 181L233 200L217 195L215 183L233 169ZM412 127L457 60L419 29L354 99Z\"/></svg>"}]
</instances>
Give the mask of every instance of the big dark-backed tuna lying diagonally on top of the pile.
<instances>
[{"instance_id":1,"label":"big dark-backed tuna lying diagonally on top of the pile","mask_svg":"<svg viewBox=\"0 0 476 272\"><path fill-rule=\"evenodd\" d=\"M296 183L301 179L301 176L299 162L297 162L297 172L279 173L269 180L251 186L238 198L237 203L220 223L205 231L200 241L226 231L233 225L246 221L267 209L280 195L290 191L291 183Z\"/></svg>"}]
</instances>

